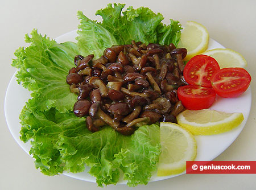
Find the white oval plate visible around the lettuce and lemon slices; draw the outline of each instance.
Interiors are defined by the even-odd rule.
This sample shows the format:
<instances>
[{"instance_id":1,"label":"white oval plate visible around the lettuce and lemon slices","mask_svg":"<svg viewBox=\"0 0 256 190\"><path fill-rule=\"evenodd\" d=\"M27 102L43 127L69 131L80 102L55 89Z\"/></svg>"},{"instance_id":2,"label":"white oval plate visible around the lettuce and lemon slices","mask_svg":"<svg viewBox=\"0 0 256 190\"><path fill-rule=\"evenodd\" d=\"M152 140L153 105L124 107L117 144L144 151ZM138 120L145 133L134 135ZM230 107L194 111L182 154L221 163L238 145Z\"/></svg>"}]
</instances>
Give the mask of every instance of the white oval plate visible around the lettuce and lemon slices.
<instances>
[{"instance_id":1,"label":"white oval plate visible around the lettuce and lemon slices","mask_svg":"<svg viewBox=\"0 0 256 190\"><path fill-rule=\"evenodd\" d=\"M71 31L71 32L68 32L67 34L59 36L58 38L56 38L56 41L58 43L66 42L66 41L76 42L75 41L76 36L77 36L76 31ZM214 49L214 48L225 48L225 47L221 46L221 44L214 41L213 39L210 39L208 49ZM22 147L23 150L26 151L27 153L30 150L31 145L30 143L25 144L19 139L19 136L20 136L19 131L21 127L19 123L20 122L19 114L23 106L25 105L25 102L30 97L31 97L30 92L28 92L27 89L24 89L21 85L17 84L16 77L14 74L13 77L11 78L10 84L6 92L5 117L6 117L7 125L9 126L9 130L13 135L14 139L19 144L19 146ZM240 126L236 127L236 129L233 129L232 131L229 131L227 133L210 135L210 136L196 136L195 137L197 142L196 160L201 160L201 161L213 160L218 155L220 155L224 150L226 150L226 148L228 148L230 144L232 144L232 142L238 137L243 127L245 126L245 123L250 113L250 106L251 106L250 88L247 89L246 92L243 93L242 96L238 98L217 97L217 101L213 104L211 109L226 111L229 113L242 112L243 117L245 119L243 120ZM87 173L87 171L88 169L79 174L66 172L64 173L64 175L67 175L76 179L80 179L80 180L96 182L96 178L93 176L90 176ZM156 176L156 174L154 174L151 177L150 181L158 181L158 180L168 179L175 176L178 176L178 175L158 177ZM122 181L122 180L119 181L119 184L125 184L125 183L126 181Z\"/></svg>"}]
</instances>

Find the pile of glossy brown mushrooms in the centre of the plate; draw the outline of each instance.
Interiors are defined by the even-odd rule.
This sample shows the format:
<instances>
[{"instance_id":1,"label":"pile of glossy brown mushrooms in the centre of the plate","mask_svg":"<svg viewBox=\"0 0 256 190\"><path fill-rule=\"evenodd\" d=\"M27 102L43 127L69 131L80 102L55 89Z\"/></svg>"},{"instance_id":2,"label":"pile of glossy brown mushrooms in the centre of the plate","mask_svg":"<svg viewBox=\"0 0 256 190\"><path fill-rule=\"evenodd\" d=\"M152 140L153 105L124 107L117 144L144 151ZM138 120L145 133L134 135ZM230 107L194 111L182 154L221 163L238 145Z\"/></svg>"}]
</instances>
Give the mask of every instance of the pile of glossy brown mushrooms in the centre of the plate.
<instances>
[{"instance_id":1,"label":"pile of glossy brown mushrooms in the centre of the plate","mask_svg":"<svg viewBox=\"0 0 256 190\"><path fill-rule=\"evenodd\" d=\"M86 126L96 132L104 125L123 135L158 121L177 122L184 110L176 89L187 85L183 59L187 49L134 41L106 48L93 59L76 55L67 83L77 93L73 112L86 117Z\"/></svg>"}]
</instances>

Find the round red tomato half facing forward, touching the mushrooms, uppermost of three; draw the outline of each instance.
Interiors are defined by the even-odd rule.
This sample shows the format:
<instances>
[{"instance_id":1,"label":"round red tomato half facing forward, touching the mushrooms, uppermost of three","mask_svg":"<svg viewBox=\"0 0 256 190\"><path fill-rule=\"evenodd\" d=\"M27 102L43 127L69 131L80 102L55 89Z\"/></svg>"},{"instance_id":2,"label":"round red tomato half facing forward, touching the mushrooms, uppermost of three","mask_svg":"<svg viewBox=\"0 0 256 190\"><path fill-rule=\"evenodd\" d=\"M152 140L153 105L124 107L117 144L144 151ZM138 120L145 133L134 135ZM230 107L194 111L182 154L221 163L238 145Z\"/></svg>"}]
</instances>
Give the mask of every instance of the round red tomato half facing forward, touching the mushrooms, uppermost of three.
<instances>
[{"instance_id":1,"label":"round red tomato half facing forward, touching the mushrooms, uppermost of three","mask_svg":"<svg viewBox=\"0 0 256 190\"><path fill-rule=\"evenodd\" d=\"M196 55L185 65L183 75L188 84L212 87L210 77L218 70L220 66L213 57Z\"/></svg>"}]
</instances>

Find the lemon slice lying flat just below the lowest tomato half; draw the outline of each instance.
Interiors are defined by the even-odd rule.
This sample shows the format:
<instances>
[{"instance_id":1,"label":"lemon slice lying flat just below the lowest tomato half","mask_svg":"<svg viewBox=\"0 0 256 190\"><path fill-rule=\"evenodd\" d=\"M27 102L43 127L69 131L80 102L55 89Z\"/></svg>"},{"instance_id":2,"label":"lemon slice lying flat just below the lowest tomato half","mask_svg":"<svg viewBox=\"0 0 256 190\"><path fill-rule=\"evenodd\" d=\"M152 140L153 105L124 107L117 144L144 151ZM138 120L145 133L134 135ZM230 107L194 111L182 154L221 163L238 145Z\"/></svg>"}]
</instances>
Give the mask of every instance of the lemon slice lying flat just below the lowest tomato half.
<instances>
[{"instance_id":1,"label":"lemon slice lying flat just below the lowest tomato half","mask_svg":"<svg viewBox=\"0 0 256 190\"><path fill-rule=\"evenodd\" d=\"M213 135L232 130L243 121L242 113L225 113L210 109L185 110L177 123L194 135Z\"/></svg>"}]
</instances>

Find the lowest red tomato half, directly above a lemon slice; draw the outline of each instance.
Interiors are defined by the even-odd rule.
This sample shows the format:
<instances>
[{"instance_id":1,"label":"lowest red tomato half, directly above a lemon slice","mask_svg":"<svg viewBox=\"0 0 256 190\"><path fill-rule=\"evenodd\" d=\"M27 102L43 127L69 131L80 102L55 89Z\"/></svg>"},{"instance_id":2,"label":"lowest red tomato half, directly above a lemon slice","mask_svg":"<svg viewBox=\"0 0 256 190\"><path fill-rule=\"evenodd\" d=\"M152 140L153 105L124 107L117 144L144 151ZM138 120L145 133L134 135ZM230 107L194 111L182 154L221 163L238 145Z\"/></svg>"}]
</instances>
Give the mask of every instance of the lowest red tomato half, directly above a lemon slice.
<instances>
[{"instance_id":1,"label":"lowest red tomato half, directly above a lemon slice","mask_svg":"<svg viewBox=\"0 0 256 190\"><path fill-rule=\"evenodd\" d=\"M207 109L216 97L212 88L194 85L180 86L177 95L183 106L189 110Z\"/></svg>"}]
</instances>

